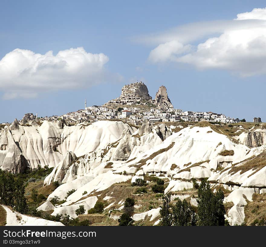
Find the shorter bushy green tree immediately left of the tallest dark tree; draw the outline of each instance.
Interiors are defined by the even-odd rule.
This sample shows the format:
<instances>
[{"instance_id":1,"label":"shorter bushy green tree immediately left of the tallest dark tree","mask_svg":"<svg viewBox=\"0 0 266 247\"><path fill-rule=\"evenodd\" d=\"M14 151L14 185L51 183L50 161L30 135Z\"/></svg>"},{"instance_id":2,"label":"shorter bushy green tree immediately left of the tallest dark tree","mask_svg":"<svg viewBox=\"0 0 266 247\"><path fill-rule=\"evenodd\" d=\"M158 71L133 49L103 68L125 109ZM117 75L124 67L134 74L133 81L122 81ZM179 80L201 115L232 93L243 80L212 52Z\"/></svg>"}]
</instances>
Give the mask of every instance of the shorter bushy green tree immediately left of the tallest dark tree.
<instances>
[{"instance_id":1,"label":"shorter bushy green tree immediately left of the tallest dark tree","mask_svg":"<svg viewBox=\"0 0 266 247\"><path fill-rule=\"evenodd\" d=\"M174 226L196 226L196 213L185 199L177 198L172 215Z\"/></svg>"}]
</instances>

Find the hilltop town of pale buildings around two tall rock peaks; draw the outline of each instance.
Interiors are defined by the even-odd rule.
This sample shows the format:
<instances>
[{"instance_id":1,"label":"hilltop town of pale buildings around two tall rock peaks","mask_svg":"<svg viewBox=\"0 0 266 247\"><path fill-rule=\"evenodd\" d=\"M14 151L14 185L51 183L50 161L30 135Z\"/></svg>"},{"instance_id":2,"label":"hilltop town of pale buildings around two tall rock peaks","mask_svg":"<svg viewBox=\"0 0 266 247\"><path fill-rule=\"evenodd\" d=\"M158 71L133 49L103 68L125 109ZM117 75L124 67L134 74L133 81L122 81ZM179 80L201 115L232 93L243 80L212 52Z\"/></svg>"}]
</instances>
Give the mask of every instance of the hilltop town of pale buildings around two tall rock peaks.
<instances>
[{"instance_id":1,"label":"hilltop town of pale buildings around two tall rock peaks","mask_svg":"<svg viewBox=\"0 0 266 247\"><path fill-rule=\"evenodd\" d=\"M224 114L204 111L183 111L176 109L172 105L165 86L161 86L157 91L155 98L149 95L148 88L143 82L135 82L125 85L118 98L112 99L101 106L87 106L85 99L85 108L63 114L61 116L38 117L32 113L27 113L21 120L26 124L29 120L52 121L65 120L69 125L76 122L97 122L99 120L121 119L125 122L141 125L145 119L150 122L220 122L220 123L238 123L241 120L225 116Z\"/></svg>"}]
</instances>

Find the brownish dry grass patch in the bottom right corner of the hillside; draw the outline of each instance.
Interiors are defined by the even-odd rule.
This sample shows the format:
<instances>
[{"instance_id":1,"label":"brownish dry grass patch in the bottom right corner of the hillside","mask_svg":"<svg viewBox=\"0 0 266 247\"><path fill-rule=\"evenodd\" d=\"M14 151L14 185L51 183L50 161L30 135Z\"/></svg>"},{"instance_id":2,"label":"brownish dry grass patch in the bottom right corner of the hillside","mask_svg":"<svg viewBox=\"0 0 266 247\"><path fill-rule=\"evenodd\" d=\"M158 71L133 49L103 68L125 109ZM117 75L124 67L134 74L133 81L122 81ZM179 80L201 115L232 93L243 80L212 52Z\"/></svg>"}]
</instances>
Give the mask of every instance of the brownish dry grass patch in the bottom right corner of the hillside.
<instances>
[{"instance_id":1,"label":"brownish dry grass patch in the bottom right corner of the hillside","mask_svg":"<svg viewBox=\"0 0 266 247\"><path fill-rule=\"evenodd\" d=\"M249 226L254 220L266 219L266 194L253 194L253 201L245 205L245 222Z\"/></svg>"}]
</instances>

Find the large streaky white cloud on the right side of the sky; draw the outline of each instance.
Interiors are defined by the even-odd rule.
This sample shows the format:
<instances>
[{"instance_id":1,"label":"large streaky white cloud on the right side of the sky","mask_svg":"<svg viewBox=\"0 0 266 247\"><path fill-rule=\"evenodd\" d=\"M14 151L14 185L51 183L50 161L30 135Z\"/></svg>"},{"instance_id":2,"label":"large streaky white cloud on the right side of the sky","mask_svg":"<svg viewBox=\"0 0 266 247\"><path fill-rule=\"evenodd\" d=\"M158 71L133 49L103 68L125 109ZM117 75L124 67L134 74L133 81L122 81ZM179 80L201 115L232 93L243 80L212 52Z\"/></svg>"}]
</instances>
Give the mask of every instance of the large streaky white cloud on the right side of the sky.
<instances>
[{"instance_id":1,"label":"large streaky white cloud on the right side of the sky","mask_svg":"<svg viewBox=\"0 0 266 247\"><path fill-rule=\"evenodd\" d=\"M266 8L238 14L235 20L189 24L151 37L162 42L150 52L154 63L174 61L242 76L266 73ZM191 44L203 37L205 42Z\"/></svg>"}]
</instances>

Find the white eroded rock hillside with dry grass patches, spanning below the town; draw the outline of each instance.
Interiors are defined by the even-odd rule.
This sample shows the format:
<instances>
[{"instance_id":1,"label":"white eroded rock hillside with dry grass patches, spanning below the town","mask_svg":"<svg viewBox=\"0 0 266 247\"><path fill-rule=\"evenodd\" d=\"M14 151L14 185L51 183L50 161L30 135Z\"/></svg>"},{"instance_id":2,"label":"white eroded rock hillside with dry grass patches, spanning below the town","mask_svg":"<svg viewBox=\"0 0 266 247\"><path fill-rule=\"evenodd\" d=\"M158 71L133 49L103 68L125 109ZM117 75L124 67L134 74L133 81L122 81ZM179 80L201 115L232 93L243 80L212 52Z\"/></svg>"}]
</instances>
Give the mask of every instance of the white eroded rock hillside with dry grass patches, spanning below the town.
<instances>
[{"instance_id":1,"label":"white eroded rock hillside with dry grass patches, spanning below the town","mask_svg":"<svg viewBox=\"0 0 266 247\"><path fill-rule=\"evenodd\" d=\"M159 222L160 202L151 191L135 195L131 181L136 178L150 184L152 176L162 178L164 193L185 196L196 205L193 179L200 182L207 177L214 190L225 191L226 219L234 225L244 221L253 195L266 193L265 133L263 123L154 125L146 121L136 129L122 121L66 126L60 120L25 126L15 120L1 130L0 164L13 173L38 165L54 167L44 188L55 181L60 186L38 210L76 217L80 205L87 212L100 200L114 224L126 196L135 197L135 220L148 217L148 225ZM66 201L54 206L49 200L55 196ZM147 200L154 205L151 210Z\"/></svg>"}]
</instances>

